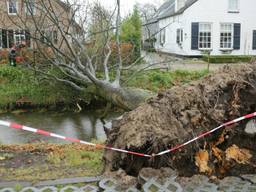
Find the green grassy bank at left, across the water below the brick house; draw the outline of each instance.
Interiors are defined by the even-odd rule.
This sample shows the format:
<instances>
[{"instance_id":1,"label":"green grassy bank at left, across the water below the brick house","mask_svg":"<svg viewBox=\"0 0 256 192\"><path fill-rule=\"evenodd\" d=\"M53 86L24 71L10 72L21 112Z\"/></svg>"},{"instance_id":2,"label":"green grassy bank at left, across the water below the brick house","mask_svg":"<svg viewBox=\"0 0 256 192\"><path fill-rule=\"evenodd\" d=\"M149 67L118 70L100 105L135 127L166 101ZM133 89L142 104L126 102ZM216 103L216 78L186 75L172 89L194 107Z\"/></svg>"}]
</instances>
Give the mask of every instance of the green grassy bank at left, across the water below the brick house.
<instances>
[{"instance_id":1,"label":"green grassy bank at left, across the water below the brick house","mask_svg":"<svg viewBox=\"0 0 256 192\"><path fill-rule=\"evenodd\" d=\"M36 74L22 67L0 66L0 109L12 108L19 101L50 106L73 103L79 93L54 81L39 81Z\"/></svg>"}]
</instances>

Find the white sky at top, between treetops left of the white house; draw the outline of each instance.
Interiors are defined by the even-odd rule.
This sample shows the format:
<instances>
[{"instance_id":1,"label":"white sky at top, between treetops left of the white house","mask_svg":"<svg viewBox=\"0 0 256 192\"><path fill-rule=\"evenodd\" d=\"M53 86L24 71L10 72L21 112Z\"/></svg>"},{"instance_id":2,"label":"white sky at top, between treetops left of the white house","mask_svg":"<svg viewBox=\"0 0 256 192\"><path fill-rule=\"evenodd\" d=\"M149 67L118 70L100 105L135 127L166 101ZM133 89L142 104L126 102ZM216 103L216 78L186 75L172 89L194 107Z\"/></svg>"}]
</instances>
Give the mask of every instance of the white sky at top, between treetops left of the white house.
<instances>
[{"instance_id":1,"label":"white sky at top, between treetops left of the white house","mask_svg":"<svg viewBox=\"0 0 256 192\"><path fill-rule=\"evenodd\" d=\"M90 0L90 1L96 1L96 0ZM116 0L98 0L98 1L102 3L102 5L104 5L106 8L109 8L109 9L114 9L116 5ZM121 13L122 13L122 16L129 14L136 3L139 3L139 4L151 3L159 7L163 3L163 1L164 0L121 0Z\"/></svg>"}]
</instances>

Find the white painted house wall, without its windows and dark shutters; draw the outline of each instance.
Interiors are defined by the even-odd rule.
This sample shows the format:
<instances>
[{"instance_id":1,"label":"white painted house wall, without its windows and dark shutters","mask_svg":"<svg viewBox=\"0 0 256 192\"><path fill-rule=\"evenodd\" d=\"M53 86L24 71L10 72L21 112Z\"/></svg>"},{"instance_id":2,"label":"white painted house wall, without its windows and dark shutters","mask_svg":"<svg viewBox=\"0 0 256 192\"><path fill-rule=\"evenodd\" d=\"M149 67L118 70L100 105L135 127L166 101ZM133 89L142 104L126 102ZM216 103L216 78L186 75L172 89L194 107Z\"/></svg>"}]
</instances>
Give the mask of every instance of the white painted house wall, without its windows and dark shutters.
<instances>
[{"instance_id":1,"label":"white painted house wall, without its windows and dark shutters","mask_svg":"<svg viewBox=\"0 0 256 192\"><path fill-rule=\"evenodd\" d=\"M228 0L199 0L182 15L159 21L160 28L169 26L166 28L166 43L164 46L157 43L156 49L185 56L201 55L201 51L191 50L192 22L212 23L211 55L227 54L220 50L220 23L241 23L240 50L232 50L230 54L256 55L256 50L252 50L252 32L256 30L256 0L240 0L239 13L228 13ZM178 28L184 30L182 47L176 43L176 30Z\"/></svg>"}]
</instances>

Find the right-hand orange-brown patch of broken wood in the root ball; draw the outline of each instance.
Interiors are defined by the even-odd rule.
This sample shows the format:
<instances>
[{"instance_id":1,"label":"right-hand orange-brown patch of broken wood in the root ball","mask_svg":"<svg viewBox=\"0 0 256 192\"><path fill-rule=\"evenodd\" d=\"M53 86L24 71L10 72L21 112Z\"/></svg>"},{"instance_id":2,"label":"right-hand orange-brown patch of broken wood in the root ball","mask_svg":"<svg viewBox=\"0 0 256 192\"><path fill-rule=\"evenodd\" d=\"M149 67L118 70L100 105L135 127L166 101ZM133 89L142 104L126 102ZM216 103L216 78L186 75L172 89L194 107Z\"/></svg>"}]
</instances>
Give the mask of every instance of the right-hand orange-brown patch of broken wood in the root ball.
<instances>
[{"instance_id":1,"label":"right-hand orange-brown patch of broken wood in the root ball","mask_svg":"<svg viewBox=\"0 0 256 192\"><path fill-rule=\"evenodd\" d=\"M239 164L247 164L252 158L252 154L247 149L240 149L238 146L233 145L226 150L226 160L234 160Z\"/></svg>"}]
</instances>

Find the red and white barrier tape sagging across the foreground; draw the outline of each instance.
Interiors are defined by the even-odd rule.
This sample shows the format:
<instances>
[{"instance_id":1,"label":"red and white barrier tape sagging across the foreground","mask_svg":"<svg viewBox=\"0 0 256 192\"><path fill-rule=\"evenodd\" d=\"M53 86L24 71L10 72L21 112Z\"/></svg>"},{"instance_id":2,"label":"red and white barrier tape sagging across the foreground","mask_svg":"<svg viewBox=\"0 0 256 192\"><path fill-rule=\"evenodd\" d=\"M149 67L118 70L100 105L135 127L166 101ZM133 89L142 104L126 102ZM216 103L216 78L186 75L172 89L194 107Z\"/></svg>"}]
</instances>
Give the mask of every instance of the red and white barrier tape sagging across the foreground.
<instances>
[{"instance_id":1,"label":"red and white barrier tape sagging across the foreground","mask_svg":"<svg viewBox=\"0 0 256 192\"><path fill-rule=\"evenodd\" d=\"M193 143L193 142L195 142L195 141L197 141L197 140L199 140L199 139L201 139L205 136L208 136L208 135L220 130L223 127L238 123L238 122L240 122L242 120L245 120L245 119L250 119L252 117L256 117L256 112L245 115L245 116L242 116L242 117L237 118L233 121L229 121L227 123L224 123L224 124L220 125L219 127L216 127L215 129L212 129L211 131L207 131L203 134L198 135L197 137L187 141L186 143L183 143L181 145L177 145L177 146L175 146L171 149L168 149L166 151L160 152L160 153L155 154L155 155L147 155L147 154L143 154L143 153L137 153L137 152L123 150L123 149L117 149L117 148L106 146L106 145L94 144L94 143L82 141L82 140L79 140L79 139L65 137L65 136L58 135L58 134L55 134L55 133L51 133L51 132L48 132L48 131L44 131L44 130L41 130L41 129L35 129L35 128L32 128L32 127L23 126L23 125L19 125L19 124L16 124L16 123L10 123L10 122L7 122L7 121L1 121L0 120L0 125L5 126L5 127L10 127L12 129L20 129L20 130L28 131L28 132L32 132L32 133L36 133L36 134L40 134L40 135L44 135L44 136L55 137L55 138L58 138L58 139L71 141L73 143L80 143L80 144L84 144L84 145L94 146L94 147L97 147L97 148L117 151L117 152L120 152L120 153L127 153L127 154L136 155L136 156L140 156L140 157L149 157L149 158L151 158L151 157L162 156L162 155L165 155L167 153L174 152L174 151L176 151L176 150L178 150L182 147L185 147L186 145L188 145L190 143Z\"/></svg>"}]
</instances>

